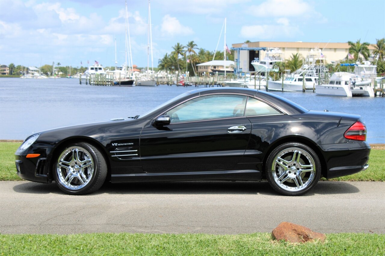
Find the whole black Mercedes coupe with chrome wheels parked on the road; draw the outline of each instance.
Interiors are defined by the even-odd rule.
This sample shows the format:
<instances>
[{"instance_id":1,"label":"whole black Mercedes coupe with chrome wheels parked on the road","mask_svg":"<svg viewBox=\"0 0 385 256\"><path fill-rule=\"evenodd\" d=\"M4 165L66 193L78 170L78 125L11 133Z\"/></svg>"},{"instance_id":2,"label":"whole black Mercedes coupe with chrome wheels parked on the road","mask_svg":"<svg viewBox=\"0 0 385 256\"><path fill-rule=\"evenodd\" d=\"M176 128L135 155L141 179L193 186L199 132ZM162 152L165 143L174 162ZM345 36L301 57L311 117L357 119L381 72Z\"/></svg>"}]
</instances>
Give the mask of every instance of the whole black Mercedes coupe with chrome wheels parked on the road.
<instances>
[{"instance_id":1,"label":"whole black Mercedes coupe with chrome wheels parked on the road","mask_svg":"<svg viewBox=\"0 0 385 256\"><path fill-rule=\"evenodd\" d=\"M261 180L284 195L309 192L321 176L368 167L358 115L307 109L268 92L205 88L142 116L39 132L15 153L17 174L92 193L105 180Z\"/></svg>"}]
</instances>

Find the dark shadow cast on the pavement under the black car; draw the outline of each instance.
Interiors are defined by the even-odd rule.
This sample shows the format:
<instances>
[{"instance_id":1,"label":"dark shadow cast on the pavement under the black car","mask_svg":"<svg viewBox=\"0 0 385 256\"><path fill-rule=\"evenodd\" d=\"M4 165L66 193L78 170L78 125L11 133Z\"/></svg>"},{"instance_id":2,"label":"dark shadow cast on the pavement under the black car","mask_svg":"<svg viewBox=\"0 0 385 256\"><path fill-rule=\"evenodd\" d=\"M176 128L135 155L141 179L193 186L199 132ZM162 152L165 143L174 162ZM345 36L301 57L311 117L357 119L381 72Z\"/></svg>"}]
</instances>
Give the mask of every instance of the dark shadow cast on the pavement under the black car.
<instances>
[{"instance_id":1,"label":"dark shadow cast on the pavement under the black car","mask_svg":"<svg viewBox=\"0 0 385 256\"><path fill-rule=\"evenodd\" d=\"M32 194L64 194L55 184L26 182L15 185L13 190L17 193ZM304 196L350 194L360 190L346 182L318 182L316 187ZM107 193L110 195L132 194L238 194L238 195L275 195L280 196L270 187L267 181L185 181L185 182L134 182L115 183L106 182L97 192L91 195Z\"/></svg>"}]
</instances>

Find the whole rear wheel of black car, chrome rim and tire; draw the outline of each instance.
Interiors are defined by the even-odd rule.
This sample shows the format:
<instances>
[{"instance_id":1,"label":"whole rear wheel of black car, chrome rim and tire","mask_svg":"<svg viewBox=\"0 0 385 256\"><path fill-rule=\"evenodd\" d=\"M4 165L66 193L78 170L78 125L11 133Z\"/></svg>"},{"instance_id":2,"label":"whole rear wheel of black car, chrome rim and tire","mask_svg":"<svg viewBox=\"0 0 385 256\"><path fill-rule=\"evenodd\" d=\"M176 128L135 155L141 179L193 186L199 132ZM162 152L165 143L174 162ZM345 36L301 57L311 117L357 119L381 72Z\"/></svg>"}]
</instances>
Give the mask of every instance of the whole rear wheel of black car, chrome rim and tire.
<instances>
[{"instance_id":1,"label":"whole rear wheel of black car, chrome rim and tire","mask_svg":"<svg viewBox=\"0 0 385 256\"><path fill-rule=\"evenodd\" d=\"M290 142L276 147L266 161L266 178L283 195L303 195L321 176L320 160L305 144Z\"/></svg>"}]
</instances>

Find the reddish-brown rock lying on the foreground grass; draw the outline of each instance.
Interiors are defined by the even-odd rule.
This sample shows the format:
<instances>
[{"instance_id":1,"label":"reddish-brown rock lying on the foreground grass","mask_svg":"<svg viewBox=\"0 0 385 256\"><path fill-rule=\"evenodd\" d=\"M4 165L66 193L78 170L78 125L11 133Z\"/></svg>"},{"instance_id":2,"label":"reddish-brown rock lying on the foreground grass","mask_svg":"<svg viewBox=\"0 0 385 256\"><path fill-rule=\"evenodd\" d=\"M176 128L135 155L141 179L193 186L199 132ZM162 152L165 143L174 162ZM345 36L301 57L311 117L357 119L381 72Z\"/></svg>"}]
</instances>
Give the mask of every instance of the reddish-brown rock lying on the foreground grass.
<instances>
[{"instance_id":1,"label":"reddish-brown rock lying on the foreground grass","mask_svg":"<svg viewBox=\"0 0 385 256\"><path fill-rule=\"evenodd\" d=\"M272 232L273 237L280 240L285 240L290 243L306 243L318 239L325 241L326 236L321 233L313 232L310 228L296 225L290 222L281 222Z\"/></svg>"}]
</instances>

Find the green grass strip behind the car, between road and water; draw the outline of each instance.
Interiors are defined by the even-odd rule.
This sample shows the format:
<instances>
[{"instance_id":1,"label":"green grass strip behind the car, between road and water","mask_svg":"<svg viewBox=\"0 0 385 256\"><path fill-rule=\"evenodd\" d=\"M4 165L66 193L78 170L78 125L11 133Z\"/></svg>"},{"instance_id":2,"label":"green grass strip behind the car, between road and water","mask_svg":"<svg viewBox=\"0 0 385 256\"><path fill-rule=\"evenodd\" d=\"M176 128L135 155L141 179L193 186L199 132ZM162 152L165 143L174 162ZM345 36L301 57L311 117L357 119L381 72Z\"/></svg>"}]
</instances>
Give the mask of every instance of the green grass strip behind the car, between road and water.
<instances>
[{"instance_id":1,"label":"green grass strip behind the car, between road and water","mask_svg":"<svg viewBox=\"0 0 385 256\"><path fill-rule=\"evenodd\" d=\"M0 180L22 180L16 175L14 153L20 142L0 142ZM333 178L338 181L385 181L385 150L372 149L370 167L353 175ZM325 178L323 178L325 180Z\"/></svg>"}]
</instances>

